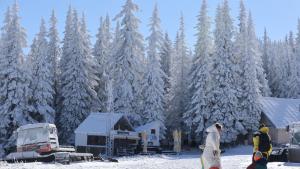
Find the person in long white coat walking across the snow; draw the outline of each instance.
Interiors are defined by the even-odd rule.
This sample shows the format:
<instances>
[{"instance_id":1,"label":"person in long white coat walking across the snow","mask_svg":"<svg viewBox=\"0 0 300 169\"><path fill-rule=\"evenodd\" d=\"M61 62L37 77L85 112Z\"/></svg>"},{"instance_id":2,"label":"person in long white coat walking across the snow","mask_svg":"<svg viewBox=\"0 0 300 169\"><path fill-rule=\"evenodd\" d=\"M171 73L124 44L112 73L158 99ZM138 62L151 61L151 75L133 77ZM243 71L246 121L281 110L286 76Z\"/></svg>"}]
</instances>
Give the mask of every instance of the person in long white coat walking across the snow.
<instances>
[{"instance_id":1,"label":"person in long white coat walking across the snow","mask_svg":"<svg viewBox=\"0 0 300 169\"><path fill-rule=\"evenodd\" d=\"M202 154L202 169L221 169L220 134L222 125L216 123L206 129L207 137Z\"/></svg>"}]
</instances>

